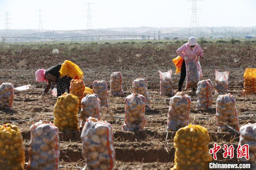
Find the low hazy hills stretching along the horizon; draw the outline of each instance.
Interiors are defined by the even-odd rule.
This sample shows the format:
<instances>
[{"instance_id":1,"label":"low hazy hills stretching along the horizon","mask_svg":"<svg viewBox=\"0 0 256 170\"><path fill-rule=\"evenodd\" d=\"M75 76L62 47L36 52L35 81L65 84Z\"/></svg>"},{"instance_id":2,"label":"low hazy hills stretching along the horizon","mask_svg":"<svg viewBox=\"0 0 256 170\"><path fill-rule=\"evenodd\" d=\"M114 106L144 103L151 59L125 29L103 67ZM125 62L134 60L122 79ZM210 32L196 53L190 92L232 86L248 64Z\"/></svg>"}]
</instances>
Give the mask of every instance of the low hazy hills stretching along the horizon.
<instances>
[{"instance_id":1,"label":"low hazy hills stretching along the horizon","mask_svg":"<svg viewBox=\"0 0 256 170\"><path fill-rule=\"evenodd\" d=\"M226 32L225 32L226 29ZM255 35L255 27L200 27L200 36L205 38L217 36L219 38L226 36L230 38L245 38L246 35ZM98 35L144 35L147 37L148 33L150 36L158 38L158 31L161 32L161 39L163 38L174 38L188 37L189 28L182 27L122 27L122 28L99 28L94 30L0 30L0 37L44 37L44 38L60 38L69 36L98 36ZM192 35L191 35L192 36ZM97 37L96 37L97 38ZM103 37L104 39L105 37ZM115 37L114 37L115 38ZM80 40L87 40L79 38ZM65 40L74 40L72 38L66 38ZM8 38L7 41L15 42L14 39ZM18 38L16 42L28 42L38 41L38 39L25 39Z\"/></svg>"}]
</instances>

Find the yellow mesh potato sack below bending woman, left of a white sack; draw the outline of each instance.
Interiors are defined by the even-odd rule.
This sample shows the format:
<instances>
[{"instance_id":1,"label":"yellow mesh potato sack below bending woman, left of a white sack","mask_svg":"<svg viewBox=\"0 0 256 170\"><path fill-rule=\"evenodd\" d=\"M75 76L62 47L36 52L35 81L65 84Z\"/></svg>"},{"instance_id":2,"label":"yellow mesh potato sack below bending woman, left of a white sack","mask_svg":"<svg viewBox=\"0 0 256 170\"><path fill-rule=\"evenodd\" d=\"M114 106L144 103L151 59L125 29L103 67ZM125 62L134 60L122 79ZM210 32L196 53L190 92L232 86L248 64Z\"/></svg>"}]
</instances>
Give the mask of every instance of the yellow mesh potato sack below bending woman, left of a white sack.
<instances>
[{"instance_id":1,"label":"yellow mesh potato sack below bending woman, left of a white sack","mask_svg":"<svg viewBox=\"0 0 256 170\"><path fill-rule=\"evenodd\" d=\"M53 123L63 131L78 131L79 99L73 94L63 94L58 97L54 105Z\"/></svg>"}]
</instances>

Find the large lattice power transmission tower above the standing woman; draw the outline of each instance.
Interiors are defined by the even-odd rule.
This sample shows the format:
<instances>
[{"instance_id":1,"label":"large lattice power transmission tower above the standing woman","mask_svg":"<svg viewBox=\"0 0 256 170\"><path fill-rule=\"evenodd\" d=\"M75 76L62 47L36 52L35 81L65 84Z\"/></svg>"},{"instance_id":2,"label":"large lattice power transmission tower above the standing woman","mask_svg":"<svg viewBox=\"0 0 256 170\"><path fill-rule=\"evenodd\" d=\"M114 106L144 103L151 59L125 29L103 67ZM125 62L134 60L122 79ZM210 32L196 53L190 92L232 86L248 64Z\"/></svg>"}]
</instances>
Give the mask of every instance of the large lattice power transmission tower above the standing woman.
<instances>
[{"instance_id":1,"label":"large lattice power transmission tower above the standing woman","mask_svg":"<svg viewBox=\"0 0 256 170\"><path fill-rule=\"evenodd\" d=\"M191 21L189 26L189 36L192 35L199 35L200 34L200 27L199 27L199 20L197 15L197 10L202 10L197 8L196 1L202 1L202 0L187 0L192 1L192 8L191 10Z\"/></svg>"}]
</instances>

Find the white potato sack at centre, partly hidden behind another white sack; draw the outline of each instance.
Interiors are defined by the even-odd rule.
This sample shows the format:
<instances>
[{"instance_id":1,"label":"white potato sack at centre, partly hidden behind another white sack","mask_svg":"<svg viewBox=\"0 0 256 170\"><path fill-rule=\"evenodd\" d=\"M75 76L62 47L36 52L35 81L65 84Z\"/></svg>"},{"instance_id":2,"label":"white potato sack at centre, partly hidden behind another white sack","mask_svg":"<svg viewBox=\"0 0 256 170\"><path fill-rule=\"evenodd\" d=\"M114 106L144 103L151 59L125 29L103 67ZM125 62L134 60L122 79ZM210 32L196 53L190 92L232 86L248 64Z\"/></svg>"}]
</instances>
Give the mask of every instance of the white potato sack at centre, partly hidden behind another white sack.
<instances>
[{"instance_id":1,"label":"white potato sack at centre, partly hidden behind another white sack","mask_svg":"<svg viewBox=\"0 0 256 170\"><path fill-rule=\"evenodd\" d=\"M147 80L146 78L137 78L132 83L132 88L134 93L142 94L146 98L146 110L149 110L150 97L147 90Z\"/></svg>"}]
</instances>

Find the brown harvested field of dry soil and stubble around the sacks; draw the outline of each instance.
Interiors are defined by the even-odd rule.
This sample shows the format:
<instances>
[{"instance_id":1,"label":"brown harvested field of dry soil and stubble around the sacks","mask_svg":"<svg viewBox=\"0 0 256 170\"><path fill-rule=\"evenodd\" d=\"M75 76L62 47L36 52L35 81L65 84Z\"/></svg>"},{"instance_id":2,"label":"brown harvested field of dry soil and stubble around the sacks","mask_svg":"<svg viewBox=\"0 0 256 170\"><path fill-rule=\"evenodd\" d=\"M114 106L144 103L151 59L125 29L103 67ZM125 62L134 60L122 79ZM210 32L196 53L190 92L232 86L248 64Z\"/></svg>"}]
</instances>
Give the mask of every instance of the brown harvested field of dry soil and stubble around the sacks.
<instances>
[{"instance_id":1,"label":"brown harvested field of dry soil and stubble around the sacks","mask_svg":"<svg viewBox=\"0 0 256 170\"><path fill-rule=\"evenodd\" d=\"M78 45L69 49L68 46L48 45L46 47L10 47L0 52L1 69L0 82L12 82L15 87L31 84L31 89L23 92L15 92L13 110L0 112L0 124L12 123L18 125L22 131L25 147L26 162L29 159L29 127L36 121L53 121L53 105L56 98L48 92L45 100L38 99L46 83L35 82L34 73L39 68L47 69L54 64L69 59L77 63L84 71L84 82L91 88L94 80L105 80L109 85L110 74L120 71L123 74L124 97L108 95L109 111L102 115L103 120L112 124L114 134L114 147L116 150L116 163L114 169L170 169L174 165L173 138L175 131L166 132L167 112L169 98L159 95L158 70L167 71L175 67L171 59L176 57L177 44L149 44L149 45ZM12 49L13 48L13 49ZM52 54L50 51L58 48L60 54ZM204 58L200 61L204 78L215 80L214 70L229 71L229 91L236 96L236 105L239 110L240 125L255 123L256 96L242 96L243 74L246 67L256 67L255 44L215 44L203 45ZM68 54L67 54L68 53ZM66 56L67 55L67 56ZM81 57L85 56L85 57ZM24 61L22 67L17 66L19 61ZM144 131L124 132L121 130L124 124L125 104L124 98L132 93L132 81L138 77L148 80L150 92L151 111L146 111L146 125ZM173 74L174 89L177 89L179 75ZM211 141L233 144L235 150L239 136L231 132L217 132L216 123L216 99L214 94L212 109L196 111L197 97L188 90L192 96L189 121L206 127ZM111 119L113 115L115 118ZM167 136L167 138L166 138ZM167 140L166 140L167 139ZM79 169L85 165L82 157L82 142L80 132L60 133L60 165L63 169ZM225 160L222 151L218 152L218 160ZM79 161L80 160L80 161ZM233 160L237 160L236 155ZM73 166L72 168L70 168Z\"/></svg>"}]
</instances>

